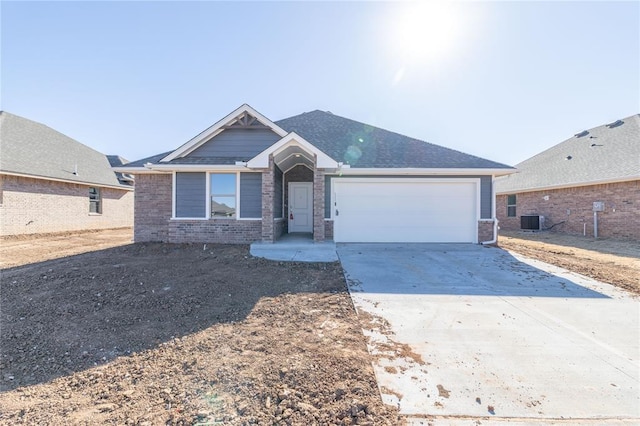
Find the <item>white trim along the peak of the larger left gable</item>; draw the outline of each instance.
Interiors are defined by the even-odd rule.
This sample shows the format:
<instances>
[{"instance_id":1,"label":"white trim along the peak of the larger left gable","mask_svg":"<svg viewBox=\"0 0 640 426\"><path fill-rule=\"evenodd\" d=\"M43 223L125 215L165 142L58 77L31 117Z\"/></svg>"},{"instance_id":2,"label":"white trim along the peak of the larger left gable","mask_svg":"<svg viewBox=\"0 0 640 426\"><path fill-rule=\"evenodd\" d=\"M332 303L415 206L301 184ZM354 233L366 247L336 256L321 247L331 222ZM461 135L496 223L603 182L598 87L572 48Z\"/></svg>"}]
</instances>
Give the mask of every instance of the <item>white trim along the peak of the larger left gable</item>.
<instances>
[{"instance_id":1,"label":"white trim along the peak of the larger left gable","mask_svg":"<svg viewBox=\"0 0 640 426\"><path fill-rule=\"evenodd\" d=\"M255 109L247 104L242 104L222 120L162 158L160 162L166 163L176 158L184 157L227 129L270 129L280 137L284 137L287 134L285 130Z\"/></svg>"}]
</instances>

